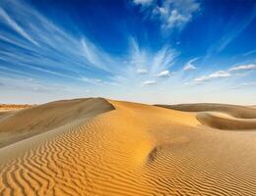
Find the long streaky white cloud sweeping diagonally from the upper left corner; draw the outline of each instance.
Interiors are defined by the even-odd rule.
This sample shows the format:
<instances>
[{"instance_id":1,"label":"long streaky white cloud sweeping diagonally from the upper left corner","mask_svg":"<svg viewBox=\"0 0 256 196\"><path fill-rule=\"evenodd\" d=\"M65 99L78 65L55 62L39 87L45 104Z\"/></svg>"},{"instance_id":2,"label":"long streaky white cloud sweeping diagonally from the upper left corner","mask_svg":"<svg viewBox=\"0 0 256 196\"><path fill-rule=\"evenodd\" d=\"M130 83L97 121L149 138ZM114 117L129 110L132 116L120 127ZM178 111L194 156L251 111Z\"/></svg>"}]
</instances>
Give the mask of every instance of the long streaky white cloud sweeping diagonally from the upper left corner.
<instances>
[{"instance_id":1,"label":"long streaky white cloud sweeping diagonally from the upper left corner","mask_svg":"<svg viewBox=\"0 0 256 196\"><path fill-rule=\"evenodd\" d=\"M88 72L111 74L119 64L88 37L65 31L23 1L1 1L0 22L16 32L0 29L2 65L21 72L28 68L77 80Z\"/></svg>"}]
</instances>

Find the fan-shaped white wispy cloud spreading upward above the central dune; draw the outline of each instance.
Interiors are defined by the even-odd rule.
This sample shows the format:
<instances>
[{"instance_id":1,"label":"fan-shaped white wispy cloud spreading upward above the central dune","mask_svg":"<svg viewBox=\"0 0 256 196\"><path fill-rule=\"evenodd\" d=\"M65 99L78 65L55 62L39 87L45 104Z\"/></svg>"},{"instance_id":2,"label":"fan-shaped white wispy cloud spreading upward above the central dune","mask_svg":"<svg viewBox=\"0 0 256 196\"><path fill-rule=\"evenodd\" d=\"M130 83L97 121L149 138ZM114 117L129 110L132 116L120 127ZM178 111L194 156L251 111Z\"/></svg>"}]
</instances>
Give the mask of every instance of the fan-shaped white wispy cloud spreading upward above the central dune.
<instances>
[{"instance_id":1,"label":"fan-shaped white wispy cloud spreading upward above the central dune","mask_svg":"<svg viewBox=\"0 0 256 196\"><path fill-rule=\"evenodd\" d=\"M116 76L111 77L116 83L138 85L148 80L159 82L160 76L157 75L165 71L160 75L166 77L166 71L174 65L178 56L174 49L167 46L163 46L156 52L140 47L134 37L130 37L130 51L128 54L130 55L123 61L125 66L118 71L119 73L116 73ZM162 79L160 80L162 81Z\"/></svg>"}]
</instances>

